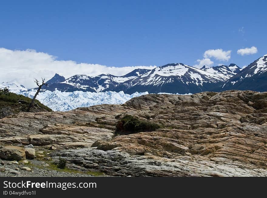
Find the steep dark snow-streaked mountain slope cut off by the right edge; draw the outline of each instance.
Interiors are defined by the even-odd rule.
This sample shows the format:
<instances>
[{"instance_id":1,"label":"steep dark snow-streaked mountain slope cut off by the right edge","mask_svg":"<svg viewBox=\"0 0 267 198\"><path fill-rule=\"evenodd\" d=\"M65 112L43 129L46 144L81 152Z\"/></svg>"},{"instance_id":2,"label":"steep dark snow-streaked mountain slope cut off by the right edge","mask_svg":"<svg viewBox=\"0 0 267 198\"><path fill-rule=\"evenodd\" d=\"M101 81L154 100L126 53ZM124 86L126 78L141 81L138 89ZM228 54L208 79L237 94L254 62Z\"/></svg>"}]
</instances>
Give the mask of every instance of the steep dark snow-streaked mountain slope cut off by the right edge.
<instances>
[{"instance_id":1,"label":"steep dark snow-streaked mountain slope cut off by the right edge","mask_svg":"<svg viewBox=\"0 0 267 198\"><path fill-rule=\"evenodd\" d=\"M267 54L249 64L240 73L228 79L222 90L238 89L267 91Z\"/></svg>"}]
</instances>

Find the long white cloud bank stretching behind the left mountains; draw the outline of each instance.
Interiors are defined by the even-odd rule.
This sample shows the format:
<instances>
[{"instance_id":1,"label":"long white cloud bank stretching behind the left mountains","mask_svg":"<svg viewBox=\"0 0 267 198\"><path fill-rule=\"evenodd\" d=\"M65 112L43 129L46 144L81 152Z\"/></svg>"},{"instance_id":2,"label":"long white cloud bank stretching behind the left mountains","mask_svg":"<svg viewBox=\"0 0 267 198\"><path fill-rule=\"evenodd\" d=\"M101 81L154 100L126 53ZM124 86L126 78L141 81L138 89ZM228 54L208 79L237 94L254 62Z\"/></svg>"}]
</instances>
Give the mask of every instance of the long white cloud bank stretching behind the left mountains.
<instances>
[{"instance_id":1,"label":"long white cloud bank stretching behind the left mountains","mask_svg":"<svg viewBox=\"0 0 267 198\"><path fill-rule=\"evenodd\" d=\"M27 88L35 87L34 78L49 80L55 73L69 78L76 74L97 76L110 73L122 76L137 68L153 69L156 66L108 67L99 64L57 60L57 57L35 50L8 50L0 48L0 80L15 81Z\"/></svg>"}]
</instances>

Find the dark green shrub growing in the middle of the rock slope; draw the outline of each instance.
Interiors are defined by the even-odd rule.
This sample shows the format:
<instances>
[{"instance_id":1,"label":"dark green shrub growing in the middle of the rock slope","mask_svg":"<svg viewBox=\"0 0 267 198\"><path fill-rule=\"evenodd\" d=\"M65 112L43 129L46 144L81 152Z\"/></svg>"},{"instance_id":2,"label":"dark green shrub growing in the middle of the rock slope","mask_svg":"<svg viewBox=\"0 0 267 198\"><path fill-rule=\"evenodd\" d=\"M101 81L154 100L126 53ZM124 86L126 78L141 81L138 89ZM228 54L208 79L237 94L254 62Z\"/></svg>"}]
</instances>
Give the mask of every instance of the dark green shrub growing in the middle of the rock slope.
<instances>
[{"instance_id":1,"label":"dark green shrub growing in the middle of the rock slope","mask_svg":"<svg viewBox=\"0 0 267 198\"><path fill-rule=\"evenodd\" d=\"M125 115L116 125L118 134L132 134L144 131L155 131L160 125L154 122L139 120L132 115Z\"/></svg>"}]
</instances>

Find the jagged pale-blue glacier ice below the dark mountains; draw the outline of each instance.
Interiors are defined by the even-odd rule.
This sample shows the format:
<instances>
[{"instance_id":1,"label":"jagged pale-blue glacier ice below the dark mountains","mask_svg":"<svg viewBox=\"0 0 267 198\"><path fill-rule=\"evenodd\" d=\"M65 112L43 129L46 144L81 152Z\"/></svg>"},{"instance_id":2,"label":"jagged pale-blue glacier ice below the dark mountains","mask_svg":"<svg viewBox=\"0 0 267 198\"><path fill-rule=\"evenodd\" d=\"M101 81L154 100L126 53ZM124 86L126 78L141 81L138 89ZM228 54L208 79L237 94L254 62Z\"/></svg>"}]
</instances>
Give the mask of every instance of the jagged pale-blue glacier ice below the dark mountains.
<instances>
[{"instance_id":1,"label":"jagged pale-blue glacier ice below the dark mountains","mask_svg":"<svg viewBox=\"0 0 267 198\"><path fill-rule=\"evenodd\" d=\"M21 92L20 94L33 98L35 90L30 90L27 92ZM36 99L42 102L44 105L51 108L53 111L68 111L78 107L89 107L93 105L100 104L123 104L133 97L141 96L145 93L133 93L131 95L123 93L123 91L116 92L61 92L55 90L40 92Z\"/></svg>"}]
</instances>

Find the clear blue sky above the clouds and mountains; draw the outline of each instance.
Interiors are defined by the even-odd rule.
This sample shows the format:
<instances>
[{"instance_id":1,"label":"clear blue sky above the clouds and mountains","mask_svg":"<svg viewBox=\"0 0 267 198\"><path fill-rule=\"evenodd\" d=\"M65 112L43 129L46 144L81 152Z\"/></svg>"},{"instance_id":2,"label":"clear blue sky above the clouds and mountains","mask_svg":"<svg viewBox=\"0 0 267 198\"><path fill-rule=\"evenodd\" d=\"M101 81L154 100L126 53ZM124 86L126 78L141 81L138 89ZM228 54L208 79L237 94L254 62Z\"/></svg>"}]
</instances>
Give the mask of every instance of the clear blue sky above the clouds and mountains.
<instances>
[{"instance_id":1,"label":"clear blue sky above the clouds and mountains","mask_svg":"<svg viewBox=\"0 0 267 198\"><path fill-rule=\"evenodd\" d=\"M0 47L106 66L247 65L267 54L265 1L2 1ZM257 53L237 50L255 46Z\"/></svg>"}]
</instances>

